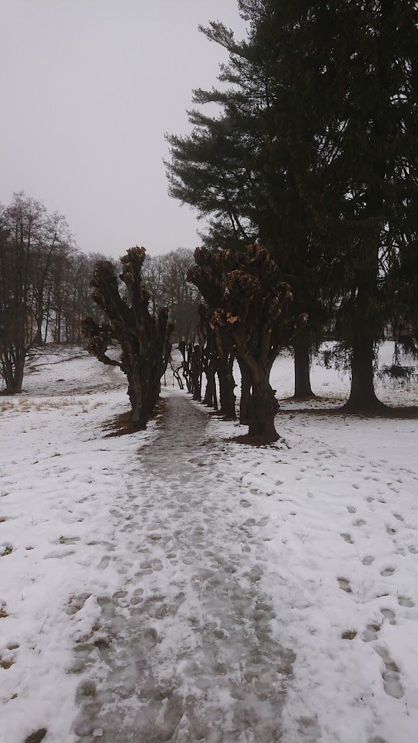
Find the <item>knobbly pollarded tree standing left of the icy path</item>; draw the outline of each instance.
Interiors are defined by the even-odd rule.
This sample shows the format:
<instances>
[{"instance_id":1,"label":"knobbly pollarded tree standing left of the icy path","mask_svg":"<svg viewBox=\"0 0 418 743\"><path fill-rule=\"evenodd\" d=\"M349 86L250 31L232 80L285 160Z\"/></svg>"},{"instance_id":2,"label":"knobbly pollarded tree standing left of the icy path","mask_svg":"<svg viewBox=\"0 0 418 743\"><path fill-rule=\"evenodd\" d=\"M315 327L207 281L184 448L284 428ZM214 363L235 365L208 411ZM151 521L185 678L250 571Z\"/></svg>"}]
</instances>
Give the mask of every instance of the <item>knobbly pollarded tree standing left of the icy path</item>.
<instances>
[{"instance_id":1,"label":"knobbly pollarded tree standing left of the icy path","mask_svg":"<svg viewBox=\"0 0 418 743\"><path fill-rule=\"evenodd\" d=\"M120 293L116 270L110 261L99 261L94 267L91 293L94 302L108 317L98 325L86 318L83 327L90 338L89 350L104 363L112 363L106 349L112 339L122 348L120 369L128 377L128 398L132 407L132 427L143 429L160 395L160 379L169 363L173 326L167 308L150 309L149 293L142 276L146 251L131 247L120 259L120 279L125 291Z\"/></svg>"}]
</instances>

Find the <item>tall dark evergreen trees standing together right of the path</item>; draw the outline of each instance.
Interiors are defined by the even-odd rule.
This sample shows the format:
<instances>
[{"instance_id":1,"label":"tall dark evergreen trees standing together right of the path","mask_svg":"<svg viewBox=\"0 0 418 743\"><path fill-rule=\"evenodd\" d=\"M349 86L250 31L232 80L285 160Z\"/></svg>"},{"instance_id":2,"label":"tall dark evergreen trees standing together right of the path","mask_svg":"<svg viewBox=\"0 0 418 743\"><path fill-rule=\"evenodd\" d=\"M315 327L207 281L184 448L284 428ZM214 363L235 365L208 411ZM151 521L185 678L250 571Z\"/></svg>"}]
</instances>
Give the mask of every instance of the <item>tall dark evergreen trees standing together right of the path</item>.
<instances>
[{"instance_id":1,"label":"tall dark evergreen trees standing together right of the path","mask_svg":"<svg viewBox=\"0 0 418 743\"><path fill-rule=\"evenodd\" d=\"M347 409L379 409L388 322L417 356L417 4L238 4L244 41L219 22L202 29L229 62L195 103L220 113L195 109L192 134L168 137L169 192L208 220L209 251L244 266L246 248L265 245L290 284L293 314L307 314L291 341L295 395L312 394L310 353L333 324L350 363Z\"/></svg>"}]
</instances>

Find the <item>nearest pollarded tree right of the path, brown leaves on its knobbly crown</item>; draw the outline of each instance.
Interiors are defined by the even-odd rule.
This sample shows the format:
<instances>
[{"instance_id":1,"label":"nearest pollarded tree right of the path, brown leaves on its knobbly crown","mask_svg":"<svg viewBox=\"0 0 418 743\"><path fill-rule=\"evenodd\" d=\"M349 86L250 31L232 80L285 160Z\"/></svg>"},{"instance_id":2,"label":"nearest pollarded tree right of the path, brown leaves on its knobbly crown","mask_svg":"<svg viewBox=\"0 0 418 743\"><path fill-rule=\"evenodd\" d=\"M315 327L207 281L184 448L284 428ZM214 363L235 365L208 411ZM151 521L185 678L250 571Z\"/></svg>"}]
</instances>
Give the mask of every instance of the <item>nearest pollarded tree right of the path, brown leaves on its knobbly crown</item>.
<instances>
[{"instance_id":1,"label":"nearest pollarded tree right of the path, brown leaves on its knobbly crown","mask_svg":"<svg viewBox=\"0 0 418 743\"><path fill-rule=\"evenodd\" d=\"M249 375L248 441L277 441L274 419L279 406L270 371L279 348L289 343L298 325L289 314L290 286L281 281L278 266L259 245L239 251L200 247L195 261L189 280L206 302L211 326Z\"/></svg>"}]
</instances>

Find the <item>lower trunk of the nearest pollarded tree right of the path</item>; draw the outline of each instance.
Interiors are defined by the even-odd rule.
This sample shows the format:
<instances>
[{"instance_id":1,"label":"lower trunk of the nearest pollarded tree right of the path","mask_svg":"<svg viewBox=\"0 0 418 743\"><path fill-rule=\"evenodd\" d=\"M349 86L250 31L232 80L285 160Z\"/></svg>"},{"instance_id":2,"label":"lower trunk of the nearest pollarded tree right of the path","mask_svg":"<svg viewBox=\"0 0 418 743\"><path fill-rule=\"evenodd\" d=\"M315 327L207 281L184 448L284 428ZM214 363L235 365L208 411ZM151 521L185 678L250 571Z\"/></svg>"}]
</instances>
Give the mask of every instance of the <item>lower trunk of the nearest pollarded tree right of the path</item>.
<instances>
[{"instance_id":1,"label":"lower trunk of the nearest pollarded tree right of the path","mask_svg":"<svg viewBox=\"0 0 418 743\"><path fill-rule=\"evenodd\" d=\"M274 419L279 405L267 379L252 385L249 403L248 438L256 444L272 444L279 436Z\"/></svg>"}]
</instances>

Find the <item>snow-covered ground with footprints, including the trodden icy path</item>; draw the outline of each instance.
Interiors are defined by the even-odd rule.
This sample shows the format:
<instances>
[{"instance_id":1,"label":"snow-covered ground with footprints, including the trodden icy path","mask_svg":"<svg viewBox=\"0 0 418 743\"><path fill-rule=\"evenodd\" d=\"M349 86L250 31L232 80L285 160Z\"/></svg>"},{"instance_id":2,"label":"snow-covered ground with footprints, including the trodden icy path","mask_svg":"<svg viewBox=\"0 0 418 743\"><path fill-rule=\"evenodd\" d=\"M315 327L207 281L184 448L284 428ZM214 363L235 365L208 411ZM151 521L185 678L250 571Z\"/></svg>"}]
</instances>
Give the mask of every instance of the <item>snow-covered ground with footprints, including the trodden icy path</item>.
<instances>
[{"instance_id":1,"label":"snow-covered ground with footprints, including the trodden icy path","mask_svg":"<svg viewBox=\"0 0 418 743\"><path fill-rule=\"evenodd\" d=\"M314 365L273 447L172 386L108 438L119 369L28 366L0 398L1 743L417 739L416 419L324 412L349 383ZM272 377L292 394L289 357Z\"/></svg>"}]
</instances>

